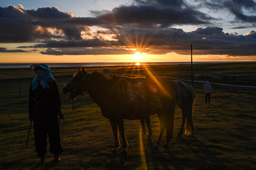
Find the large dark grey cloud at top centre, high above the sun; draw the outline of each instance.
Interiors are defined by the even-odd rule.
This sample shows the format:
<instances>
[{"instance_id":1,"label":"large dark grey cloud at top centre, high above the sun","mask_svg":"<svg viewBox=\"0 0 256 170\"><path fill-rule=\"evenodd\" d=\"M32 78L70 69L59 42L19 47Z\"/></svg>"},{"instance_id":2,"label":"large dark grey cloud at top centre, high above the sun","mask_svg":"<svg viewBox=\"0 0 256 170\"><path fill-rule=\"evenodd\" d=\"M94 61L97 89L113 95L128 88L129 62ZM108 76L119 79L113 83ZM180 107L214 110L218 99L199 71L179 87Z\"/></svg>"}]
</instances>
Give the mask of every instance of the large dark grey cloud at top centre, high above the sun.
<instances>
[{"instance_id":1,"label":"large dark grey cloud at top centre, high above the sun","mask_svg":"<svg viewBox=\"0 0 256 170\"><path fill-rule=\"evenodd\" d=\"M215 18L202 13L182 0L147 0L136 1L137 4L120 6L112 11L93 11L96 18L113 24L210 24Z\"/></svg>"}]
</instances>

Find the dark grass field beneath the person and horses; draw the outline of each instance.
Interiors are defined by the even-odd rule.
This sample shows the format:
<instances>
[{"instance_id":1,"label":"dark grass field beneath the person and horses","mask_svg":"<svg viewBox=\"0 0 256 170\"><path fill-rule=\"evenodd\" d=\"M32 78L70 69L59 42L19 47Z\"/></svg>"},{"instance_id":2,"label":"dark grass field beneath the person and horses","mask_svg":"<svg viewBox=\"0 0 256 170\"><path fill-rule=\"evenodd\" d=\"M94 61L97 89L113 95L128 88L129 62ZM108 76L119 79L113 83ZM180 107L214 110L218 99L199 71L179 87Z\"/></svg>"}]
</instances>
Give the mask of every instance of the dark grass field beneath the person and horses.
<instances>
[{"instance_id":1,"label":"dark grass field beneath the person and horses","mask_svg":"<svg viewBox=\"0 0 256 170\"><path fill-rule=\"evenodd\" d=\"M179 68L179 66L175 67ZM224 69L224 66L222 67ZM159 76L171 76L175 71L176 74L181 71L174 69L174 66L169 68L173 69L172 73L165 67L152 67L151 70ZM59 72L59 75L65 75L75 73L76 69L52 70L53 74ZM102 68L87 70L102 70ZM202 66L201 70L211 72L211 68ZM1 78L3 72L8 72L10 77L17 76L17 70L12 71L0 70ZM131 71L128 74L137 74L137 72ZM27 70L27 76L33 76L33 72ZM56 78L60 91L70 79L71 77ZM48 145L46 162L42 165L38 164L33 128L29 146L25 148L29 126L27 98L31 81L32 79L20 80L21 98L18 93L18 80L0 81L0 170L256 169L256 95L218 88L217 93L212 94L211 104L205 105L201 84L194 85L196 91L193 112L194 134L189 137L174 137L169 149L160 147L159 151L152 150L160 129L158 118L153 115L151 116L152 143L146 142L144 140L146 136L143 138L140 135L139 120L125 120L128 154L111 153L114 139L110 122L101 113L95 113L100 109L86 94L84 97L78 97L77 108L72 115L72 117L81 117L66 120L67 132L61 138L64 150L61 154L61 162L53 161ZM72 110L72 102L63 93L60 94L62 111L68 116ZM181 110L178 107L175 110L174 123L174 134L177 134L182 123Z\"/></svg>"}]
</instances>

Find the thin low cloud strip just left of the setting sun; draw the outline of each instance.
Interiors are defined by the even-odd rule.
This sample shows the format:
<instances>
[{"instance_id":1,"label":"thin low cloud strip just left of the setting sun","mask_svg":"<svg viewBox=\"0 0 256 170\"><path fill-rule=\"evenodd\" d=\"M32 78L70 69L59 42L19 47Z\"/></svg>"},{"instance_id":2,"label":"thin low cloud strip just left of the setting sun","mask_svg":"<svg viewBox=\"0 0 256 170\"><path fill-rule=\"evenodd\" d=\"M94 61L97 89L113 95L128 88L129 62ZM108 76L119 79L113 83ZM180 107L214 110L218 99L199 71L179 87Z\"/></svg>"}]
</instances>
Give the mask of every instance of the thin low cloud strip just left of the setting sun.
<instances>
[{"instance_id":1,"label":"thin low cloud strip just left of the setting sun","mask_svg":"<svg viewBox=\"0 0 256 170\"><path fill-rule=\"evenodd\" d=\"M41 54L47 55L104 55L104 54L133 54L134 51L122 48L48 48L46 51L41 51Z\"/></svg>"}]
</instances>

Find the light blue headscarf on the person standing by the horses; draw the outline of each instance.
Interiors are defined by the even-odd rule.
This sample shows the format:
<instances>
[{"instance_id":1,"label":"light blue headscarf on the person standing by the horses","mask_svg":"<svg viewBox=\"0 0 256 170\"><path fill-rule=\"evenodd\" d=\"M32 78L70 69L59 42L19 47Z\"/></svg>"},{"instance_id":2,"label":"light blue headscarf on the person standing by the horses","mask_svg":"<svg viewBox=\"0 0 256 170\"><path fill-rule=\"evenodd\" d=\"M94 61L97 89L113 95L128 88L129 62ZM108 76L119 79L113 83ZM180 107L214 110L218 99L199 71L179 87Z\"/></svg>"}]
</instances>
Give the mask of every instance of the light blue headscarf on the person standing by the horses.
<instances>
[{"instance_id":1,"label":"light blue headscarf on the person standing by the horses","mask_svg":"<svg viewBox=\"0 0 256 170\"><path fill-rule=\"evenodd\" d=\"M35 67L32 67L33 65L31 65L30 68L32 68L35 71ZM38 86L38 82L44 89L49 88L50 86L47 82L55 80L53 78L53 75L51 74L51 70L50 70L49 66L47 64L38 64L37 67L46 68L46 71L43 76L36 76L33 79L31 89L35 90ZM36 71L35 71L35 73L37 74Z\"/></svg>"}]
</instances>

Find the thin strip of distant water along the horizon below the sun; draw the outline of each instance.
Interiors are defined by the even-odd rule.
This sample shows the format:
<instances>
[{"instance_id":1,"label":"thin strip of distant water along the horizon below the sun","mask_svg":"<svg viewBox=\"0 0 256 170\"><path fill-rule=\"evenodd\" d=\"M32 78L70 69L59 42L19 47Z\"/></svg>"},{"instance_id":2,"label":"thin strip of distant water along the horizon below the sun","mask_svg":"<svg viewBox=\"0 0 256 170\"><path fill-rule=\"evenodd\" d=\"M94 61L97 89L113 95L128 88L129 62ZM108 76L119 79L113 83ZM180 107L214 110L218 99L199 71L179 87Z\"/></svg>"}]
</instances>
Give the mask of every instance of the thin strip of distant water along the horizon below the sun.
<instances>
[{"instance_id":1,"label":"thin strip of distant water along the horizon below the sun","mask_svg":"<svg viewBox=\"0 0 256 170\"><path fill-rule=\"evenodd\" d=\"M232 62L193 62L193 64L203 63L232 63ZM34 63L0 63L0 68L29 68ZM67 67L101 67L101 66L130 66L136 62L96 62L96 63L46 63L50 68L67 68ZM190 64L190 62L140 62L141 65L174 65Z\"/></svg>"}]
</instances>

